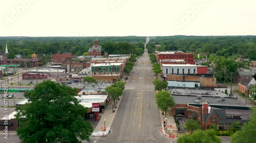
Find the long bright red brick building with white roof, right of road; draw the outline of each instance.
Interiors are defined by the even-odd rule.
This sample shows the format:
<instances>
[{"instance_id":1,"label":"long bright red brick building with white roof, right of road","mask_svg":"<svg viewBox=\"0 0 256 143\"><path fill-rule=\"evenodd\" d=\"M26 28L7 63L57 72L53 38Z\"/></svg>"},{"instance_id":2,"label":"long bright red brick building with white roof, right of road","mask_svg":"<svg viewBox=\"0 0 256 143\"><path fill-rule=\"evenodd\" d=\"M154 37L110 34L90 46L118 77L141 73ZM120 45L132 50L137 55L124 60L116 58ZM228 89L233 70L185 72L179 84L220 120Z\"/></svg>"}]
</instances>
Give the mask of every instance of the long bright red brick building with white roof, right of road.
<instances>
[{"instance_id":1,"label":"long bright red brick building with white roof, right of road","mask_svg":"<svg viewBox=\"0 0 256 143\"><path fill-rule=\"evenodd\" d=\"M187 64L195 64L194 53L184 53L182 51L156 52L158 62L160 60L184 60Z\"/></svg>"}]
</instances>

